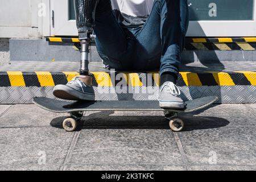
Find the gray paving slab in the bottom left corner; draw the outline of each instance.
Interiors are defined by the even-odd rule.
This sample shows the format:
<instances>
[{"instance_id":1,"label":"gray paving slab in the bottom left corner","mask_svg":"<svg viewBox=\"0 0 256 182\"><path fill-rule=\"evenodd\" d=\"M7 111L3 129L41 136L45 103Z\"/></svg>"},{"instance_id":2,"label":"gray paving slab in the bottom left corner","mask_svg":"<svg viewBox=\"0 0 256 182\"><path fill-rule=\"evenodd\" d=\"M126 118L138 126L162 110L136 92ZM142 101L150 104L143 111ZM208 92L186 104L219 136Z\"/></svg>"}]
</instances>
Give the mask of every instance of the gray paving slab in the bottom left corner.
<instances>
[{"instance_id":1,"label":"gray paving slab in the bottom left corner","mask_svg":"<svg viewBox=\"0 0 256 182\"><path fill-rule=\"evenodd\" d=\"M63 164L73 135L50 127L0 129L0 166Z\"/></svg>"}]
</instances>

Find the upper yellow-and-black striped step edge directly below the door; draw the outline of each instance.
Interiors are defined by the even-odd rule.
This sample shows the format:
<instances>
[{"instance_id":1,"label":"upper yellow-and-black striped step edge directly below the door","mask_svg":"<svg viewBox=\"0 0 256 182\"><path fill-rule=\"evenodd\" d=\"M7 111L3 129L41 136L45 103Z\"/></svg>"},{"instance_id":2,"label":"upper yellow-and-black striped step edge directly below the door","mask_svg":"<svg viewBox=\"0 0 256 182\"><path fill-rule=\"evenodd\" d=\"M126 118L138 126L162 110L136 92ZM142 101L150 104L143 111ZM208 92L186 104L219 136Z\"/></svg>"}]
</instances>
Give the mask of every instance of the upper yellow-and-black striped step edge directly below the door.
<instances>
[{"instance_id":1,"label":"upper yellow-and-black striped step edge directly below the door","mask_svg":"<svg viewBox=\"0 0 256 182\"><path fill-rule=\"evenodd\" d=\"M78 43L78 38L47 37L48 42L55 43ZM243 50L253 51L256 49L256 38L186 38L186 50Z\"/></svg>"}]
</instances>

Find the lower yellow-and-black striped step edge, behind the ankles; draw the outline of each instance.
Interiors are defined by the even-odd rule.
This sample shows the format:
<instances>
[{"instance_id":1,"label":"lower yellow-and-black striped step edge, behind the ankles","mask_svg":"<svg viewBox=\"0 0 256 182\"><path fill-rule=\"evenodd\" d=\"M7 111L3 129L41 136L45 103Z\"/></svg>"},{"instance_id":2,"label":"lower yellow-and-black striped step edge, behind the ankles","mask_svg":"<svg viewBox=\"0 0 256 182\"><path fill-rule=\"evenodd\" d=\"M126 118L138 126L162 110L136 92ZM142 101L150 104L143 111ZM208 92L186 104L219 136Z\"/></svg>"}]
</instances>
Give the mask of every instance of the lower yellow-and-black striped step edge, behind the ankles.
<instances>
[{"instance_id":1,"label":"lower yellow-and-black striped step edge, behind the ankles","mask_svg":"<svg viewBox=\"0 0 256 182\"><path fill-rule=\"evenodd\" d=\"M114 74L114 75L113 75ZM121 73L122 78L115 79L117 72L92 72L94 86L114 86L122 78L128 86L159 86L159 73ZM55 86L67 84L77 72L0 72L0 87L7 86ZM144 78L147 81L143 80ZM150 79L151 78L151 79ZM147 85L143 85L143 83ZM256 86L256 72L180 72L179 86Z\"/></svg>"}]
</instances>

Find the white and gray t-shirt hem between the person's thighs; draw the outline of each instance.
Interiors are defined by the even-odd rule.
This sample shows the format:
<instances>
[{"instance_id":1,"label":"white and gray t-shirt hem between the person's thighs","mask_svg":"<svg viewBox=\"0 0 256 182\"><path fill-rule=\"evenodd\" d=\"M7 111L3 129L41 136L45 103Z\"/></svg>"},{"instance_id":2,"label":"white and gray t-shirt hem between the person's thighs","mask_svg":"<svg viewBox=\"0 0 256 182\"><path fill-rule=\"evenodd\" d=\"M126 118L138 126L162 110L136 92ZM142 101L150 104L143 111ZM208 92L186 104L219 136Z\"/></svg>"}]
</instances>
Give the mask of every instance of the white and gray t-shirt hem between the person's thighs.
<instances>
[{"instance_id":1,"label":"white and gray t-shirt hem between the person's thighs","mask_svg":"<svg viewBox=\"0 0 256 182\"><path fill-rule=\"evenodd\" d=\"M122 27L143 26L154 0L111 0L112 9Z\"/></svg>"}]
</instances>

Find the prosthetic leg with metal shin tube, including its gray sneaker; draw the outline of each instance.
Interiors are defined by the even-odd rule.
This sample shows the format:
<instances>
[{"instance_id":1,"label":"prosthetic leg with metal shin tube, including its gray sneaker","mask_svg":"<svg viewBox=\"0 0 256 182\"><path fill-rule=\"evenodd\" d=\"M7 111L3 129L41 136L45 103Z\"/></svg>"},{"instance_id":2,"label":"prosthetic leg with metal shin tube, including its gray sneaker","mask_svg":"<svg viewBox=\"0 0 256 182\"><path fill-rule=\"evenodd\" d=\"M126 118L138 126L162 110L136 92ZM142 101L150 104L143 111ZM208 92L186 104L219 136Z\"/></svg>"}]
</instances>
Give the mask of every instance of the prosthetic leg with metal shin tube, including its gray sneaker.
<instances>
[{"instance_id":1,"label":"prosthetic leg with metal shin tube, including its gray sneaker","mask_svg":"<svg viewBox=\"0 0 256 182\"><path fill-rule=\"evenodd\" d=\"M80 75L73 78L66 85L56 85L53 95L64 100L94 101L95 93L92 86L92 77L89 75L89 46L93 38L95 26L95 11L98 0L75 0L76 24L81 42L81 67ZM81 117L81 113L72 117Z\"/></svg>"}]
</instances>

